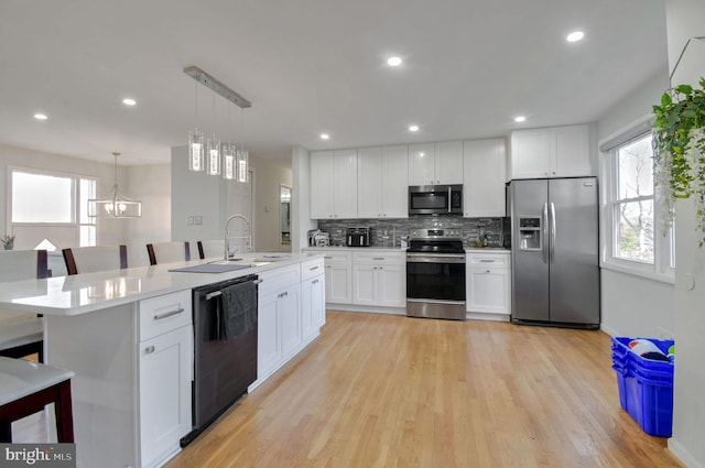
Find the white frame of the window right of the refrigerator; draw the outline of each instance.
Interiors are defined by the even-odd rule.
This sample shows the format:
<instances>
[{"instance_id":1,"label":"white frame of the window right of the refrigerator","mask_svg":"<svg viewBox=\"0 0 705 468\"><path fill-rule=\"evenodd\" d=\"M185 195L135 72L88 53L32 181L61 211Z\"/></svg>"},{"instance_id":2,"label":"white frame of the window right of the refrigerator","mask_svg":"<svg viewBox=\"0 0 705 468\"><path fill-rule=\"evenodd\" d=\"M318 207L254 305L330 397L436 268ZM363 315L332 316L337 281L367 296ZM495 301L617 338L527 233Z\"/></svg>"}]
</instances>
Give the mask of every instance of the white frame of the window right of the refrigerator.
<instances>
[{"instance_id":1,"label":"white frame of the window right of the refrigerator","mask_svg":"<svg viewBox=\"0 0 705 468\"><path fill-rule=\"evenodd\" d=\"M619 197L619 170L617 152L620 148L640 140L649 133L652 133L649 124L650 117L643 119L638 124L627 130L622 130L609 139L607 143L600 144L600 175L604 181L601 186L601 254L600 266L608 270L620 271L622 273L633 274L648 277L655 281L662 281L674 284L675 282L675 243L674 231L671 230L663 236L663 222L661 220L662 194L653 187L653 195L639 196L632 198ZM652 199L653 202L653 262L644 262L640 260L630 260L617 257L617 239L619 230L619 221L617 213L621 204L629 202L639 202Z\"/></svg>"}]
</instances>

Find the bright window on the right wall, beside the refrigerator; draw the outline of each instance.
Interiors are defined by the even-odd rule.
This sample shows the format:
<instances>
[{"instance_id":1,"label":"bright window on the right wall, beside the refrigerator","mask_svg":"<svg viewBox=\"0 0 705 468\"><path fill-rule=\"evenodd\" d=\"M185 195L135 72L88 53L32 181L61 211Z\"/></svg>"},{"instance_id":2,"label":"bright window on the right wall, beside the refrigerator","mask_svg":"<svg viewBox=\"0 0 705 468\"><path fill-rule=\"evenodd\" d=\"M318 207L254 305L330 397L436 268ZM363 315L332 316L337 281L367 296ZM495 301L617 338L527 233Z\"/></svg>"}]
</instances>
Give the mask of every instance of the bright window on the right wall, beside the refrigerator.
<instances>
[{"instance_id":1,"label":"bright window on the right wall, beside the refrigerator","mask_svg":"<svg viewBox=\"0 0 705 468\"><path fill-rule=\"evenodd\" d=\"M642 273L673 276L673 229L663 236L653 181L651 131L630 134L605 152L604 261Z\"/></svg>"}]
</instances>

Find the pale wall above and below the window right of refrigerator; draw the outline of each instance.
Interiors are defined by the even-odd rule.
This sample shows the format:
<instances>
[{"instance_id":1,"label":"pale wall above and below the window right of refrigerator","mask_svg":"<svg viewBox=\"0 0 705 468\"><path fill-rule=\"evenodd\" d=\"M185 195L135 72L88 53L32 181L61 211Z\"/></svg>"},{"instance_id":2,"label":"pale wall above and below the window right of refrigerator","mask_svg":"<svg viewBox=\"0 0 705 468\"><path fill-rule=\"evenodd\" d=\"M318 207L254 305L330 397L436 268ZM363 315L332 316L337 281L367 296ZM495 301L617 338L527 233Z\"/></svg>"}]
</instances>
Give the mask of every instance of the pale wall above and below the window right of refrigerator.
<instances>
[{"instance_id":1,"label":"pale wall above and below the window right of refrigerator","mask_svg":"<svg viewBox=\"0 0 705 468\"><path fill-rule=\"evenodd\" d=\"M669 87L668 70L647 79L605 112L598 141L615 137L651 112ZM603 162L600 162L603 163ZM612 336L672 337L675 333L672 284L601 269L601 328Z\"/></svg>"}]
</instances>

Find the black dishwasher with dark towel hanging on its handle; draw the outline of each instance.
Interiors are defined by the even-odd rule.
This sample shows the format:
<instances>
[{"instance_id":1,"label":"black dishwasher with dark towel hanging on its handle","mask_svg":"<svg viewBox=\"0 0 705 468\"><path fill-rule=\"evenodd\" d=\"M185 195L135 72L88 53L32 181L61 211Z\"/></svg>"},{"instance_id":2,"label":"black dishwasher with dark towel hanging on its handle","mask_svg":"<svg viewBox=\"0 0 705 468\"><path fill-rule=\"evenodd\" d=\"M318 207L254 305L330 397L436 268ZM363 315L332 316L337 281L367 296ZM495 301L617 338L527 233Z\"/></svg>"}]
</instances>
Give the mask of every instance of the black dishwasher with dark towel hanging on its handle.
<instances>
[{"instance_id":1,"label":"black dishwasher with dark towel hanging on its handle","mask_svg":"<svg viewBox=\"0 0 705 468\"><path fill-rule=\"evenodd\" d=\"M247 275L193 290L193 431L181 439L182 447L257 380L257 275ZM236 320L236 333L224 336L223 314Z\"/></svg>"}]
</instances>

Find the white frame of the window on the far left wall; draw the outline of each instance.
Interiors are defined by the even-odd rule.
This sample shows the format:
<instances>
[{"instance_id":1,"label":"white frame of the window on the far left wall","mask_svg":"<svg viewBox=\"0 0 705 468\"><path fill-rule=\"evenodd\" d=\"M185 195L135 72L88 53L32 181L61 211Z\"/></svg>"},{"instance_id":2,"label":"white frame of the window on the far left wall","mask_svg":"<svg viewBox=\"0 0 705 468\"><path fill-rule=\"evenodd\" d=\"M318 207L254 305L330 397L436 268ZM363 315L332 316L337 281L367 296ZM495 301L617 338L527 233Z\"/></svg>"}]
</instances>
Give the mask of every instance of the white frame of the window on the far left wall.
<instances>
[{"instance_id":1,"label":"white frame of the window on the far left wall","mask_svg":"<svg viewBox=\"0 0 705 468\"><path fill-rule=\"evenodd\" d=\"M72 221L70 222L51 222L51 221L39 221L39 222L14 222L12 220L12 198L13 198L13 174L15 172L21 172L21 173L25 173L25 174L33 174L33 175L43 175L43 176L54 176L54 177L65 177L65 178L69 178L72 181ZM98 191L98 183L99 183L99 178L96 176L90 176L90 175L84 175L84 174L76 174L76 173L69 173L69 172L63 172L63 171L53 171L53 170L45 170L45 168L37 168L37 167L26 167L26 166L15 166L15 165L8 165L8 172L7 172L7 191L6 191L6 199L7 199L7 204L6 204L6 226L8 226L9 229L13 229L15 226L17 227L46 227L46 228L52 228L52 227L75 227L76 228L76 236L75 236L75 242L76 246L79 247L85 247L80 244L80 228L83 226L93 226L96 229L96 236L95 236L95 240L96 243L98 243L98 225L96 222L95 218L88 218L87 222L82 222L80 218L82 218L82 214L84 211L87 211L88 207L82 207L80 206L80 182L82 181L90 181L95 184L95 189L96 192Z\"/></svg>"}]
</instances>

